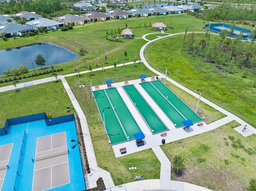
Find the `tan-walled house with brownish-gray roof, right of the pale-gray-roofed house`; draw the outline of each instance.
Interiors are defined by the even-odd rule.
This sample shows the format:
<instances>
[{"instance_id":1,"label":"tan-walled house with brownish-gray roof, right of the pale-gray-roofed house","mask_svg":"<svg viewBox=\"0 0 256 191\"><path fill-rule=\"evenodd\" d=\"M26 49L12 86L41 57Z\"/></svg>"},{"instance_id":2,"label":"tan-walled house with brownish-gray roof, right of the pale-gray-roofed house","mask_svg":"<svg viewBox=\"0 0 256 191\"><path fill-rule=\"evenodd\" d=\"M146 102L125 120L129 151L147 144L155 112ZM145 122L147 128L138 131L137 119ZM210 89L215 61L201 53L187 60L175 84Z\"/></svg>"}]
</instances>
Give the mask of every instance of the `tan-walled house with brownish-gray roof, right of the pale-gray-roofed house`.
<instances>
[{"instance_id":1,"label":"tan-walled house with brownish-gray roof, right of the pale-gray-roofed house","mask_svg":"<svg viewBox=\"0 0 256 191\"><path fill-rule=\"evenodd\" d=\"M70 26L84 25L88 22L88 19L84 17L80 17L78 15L70 15L70 14L60 16L59 18L55 18L54 20Z\"/></svg>"}]
</instances>

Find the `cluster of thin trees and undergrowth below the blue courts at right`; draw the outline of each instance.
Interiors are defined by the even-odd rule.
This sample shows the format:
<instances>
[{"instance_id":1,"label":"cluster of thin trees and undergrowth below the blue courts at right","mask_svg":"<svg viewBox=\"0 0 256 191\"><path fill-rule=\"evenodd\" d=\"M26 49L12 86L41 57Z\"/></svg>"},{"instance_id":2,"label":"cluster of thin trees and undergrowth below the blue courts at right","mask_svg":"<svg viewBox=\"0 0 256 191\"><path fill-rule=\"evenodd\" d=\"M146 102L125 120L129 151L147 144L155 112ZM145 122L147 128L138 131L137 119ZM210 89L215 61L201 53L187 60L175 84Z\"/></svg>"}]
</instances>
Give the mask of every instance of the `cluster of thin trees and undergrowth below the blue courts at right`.
<instances>
[{"instance_id":1,"label":"cluster of thin trees and undergrowth below the blue courts at right","mask_svg":"<svg viewBox=\"0 0 256 191\"><path fill-rule=\"evenodd\" d=\"M216 64L216 67L227 73L242 71L242 77L248 77L249 73L256 75L256 44L251 41L241 41L242 35L226 36L228 31L224 30L219 36L212 36L210 33L202 37L194 32L185 34L183 51L204 58L205 62ZM256 84L255 84L256 85Z\"/></svg>"}]
</instances>

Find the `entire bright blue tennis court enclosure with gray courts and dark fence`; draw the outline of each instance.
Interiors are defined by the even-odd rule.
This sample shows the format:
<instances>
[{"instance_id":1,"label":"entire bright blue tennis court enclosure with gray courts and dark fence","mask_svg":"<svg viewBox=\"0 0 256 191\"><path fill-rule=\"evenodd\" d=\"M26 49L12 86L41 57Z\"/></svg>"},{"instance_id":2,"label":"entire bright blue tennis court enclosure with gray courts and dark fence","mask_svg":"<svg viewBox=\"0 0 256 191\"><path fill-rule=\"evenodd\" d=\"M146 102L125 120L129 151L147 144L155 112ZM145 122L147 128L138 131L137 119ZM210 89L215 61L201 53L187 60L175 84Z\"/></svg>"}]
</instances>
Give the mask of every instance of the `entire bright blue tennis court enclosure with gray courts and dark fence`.
<instances>
[{"instance_id":1,"label":"entire bright blue tennis court enclosure with gray courts and dark fence","mask_svg":"<svg viewBox=\"0 0 256 191\"><path fill-rule=\"evenodd\" d=\"M6 120L0 136L0 190L85 190L73 115ZM43 181L42 181L43 180Z\"/></svg>"}]
</instances>

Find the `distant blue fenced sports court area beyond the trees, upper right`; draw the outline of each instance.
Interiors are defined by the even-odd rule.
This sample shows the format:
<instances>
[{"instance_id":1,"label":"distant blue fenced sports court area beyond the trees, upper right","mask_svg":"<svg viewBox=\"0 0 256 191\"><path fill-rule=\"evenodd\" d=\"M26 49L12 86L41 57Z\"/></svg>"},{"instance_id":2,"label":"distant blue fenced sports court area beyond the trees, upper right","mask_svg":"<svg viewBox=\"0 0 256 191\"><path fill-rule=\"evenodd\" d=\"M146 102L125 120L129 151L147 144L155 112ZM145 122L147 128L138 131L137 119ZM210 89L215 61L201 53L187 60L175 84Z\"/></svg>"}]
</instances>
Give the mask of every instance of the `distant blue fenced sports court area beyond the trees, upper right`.
<instances>
[{"instance_id":1,"label":"distant blue fenced sports court area beyond the trees, upper right","mask_svg":"<svg viewBox=\"0 0 256 191\"><path fill-rule=\"evenodd\" d=\"M220 33L223 30L232 31L233 26L218 23L218 24L206 24L205 28L208 28L209 30L211 30L213 32ZM244 32L242 32L242 31L244 31ZM247 38L249 38L250 33L251 33L251 31L248 29L234 27L232 37L236 37L236 35L242 35L242 39L247 39Z\"/></svg>"}]
</instances>

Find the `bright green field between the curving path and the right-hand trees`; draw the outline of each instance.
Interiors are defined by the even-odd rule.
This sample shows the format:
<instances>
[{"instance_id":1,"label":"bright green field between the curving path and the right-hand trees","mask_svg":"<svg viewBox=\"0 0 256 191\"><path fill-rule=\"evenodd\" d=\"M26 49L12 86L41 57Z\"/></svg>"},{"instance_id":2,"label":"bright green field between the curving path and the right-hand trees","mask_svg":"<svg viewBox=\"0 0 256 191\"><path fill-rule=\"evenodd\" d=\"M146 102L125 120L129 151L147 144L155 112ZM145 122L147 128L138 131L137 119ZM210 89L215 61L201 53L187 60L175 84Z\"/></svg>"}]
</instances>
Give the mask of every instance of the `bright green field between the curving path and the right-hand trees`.
<instances>
[{"instance_id":1,"label":"bright green field between the curving path and the right-hand trees","mask_svg":"<svg viewBox=\"0 0 256 191\"><path fill-rule=\"evenodd\" d=\"M169 77L192 91L202 89L202 96L256 127L256 88L253 87L256 76L242 78L242 71L237 67L236 73L229 74L217 69L215 64L203 62L204 57L188 55L181 51L183 39L176 36L151 43L145 49L146 59L162 73L166 69L163 64L167 64ZM202 34L196 34L195 41L200 39Z\"/></svg>"}]
</instances>

